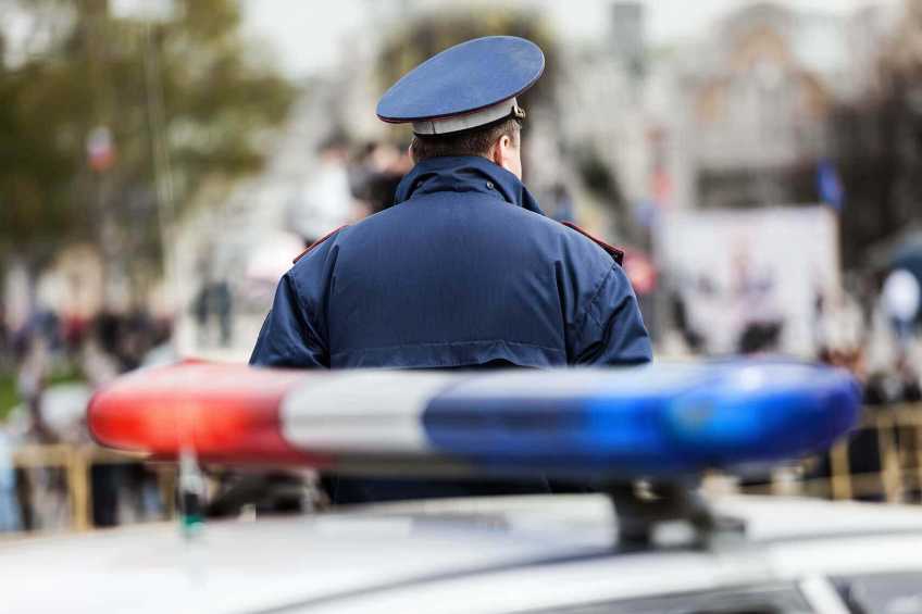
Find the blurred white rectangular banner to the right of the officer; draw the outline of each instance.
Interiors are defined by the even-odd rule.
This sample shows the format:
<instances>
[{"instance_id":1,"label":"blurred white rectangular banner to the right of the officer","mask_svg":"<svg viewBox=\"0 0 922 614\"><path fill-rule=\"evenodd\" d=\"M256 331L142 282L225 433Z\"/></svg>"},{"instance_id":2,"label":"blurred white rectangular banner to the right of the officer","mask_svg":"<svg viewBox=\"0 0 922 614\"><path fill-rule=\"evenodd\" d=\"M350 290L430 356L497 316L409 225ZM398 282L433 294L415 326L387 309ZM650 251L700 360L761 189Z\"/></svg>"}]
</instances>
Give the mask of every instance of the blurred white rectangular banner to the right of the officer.
<instances>
[{"instance_id":1,"label":"blurred white rectangular banner to the right of the officer","mask_svg":"<svg viewBox=\"0 0 922 614\"><path fill-rule=\"evenodd\" d=\"M812 355L817 297L839 287L827 208L675 212L660 245L701 350Z\"/></svg>"}]
</instances>

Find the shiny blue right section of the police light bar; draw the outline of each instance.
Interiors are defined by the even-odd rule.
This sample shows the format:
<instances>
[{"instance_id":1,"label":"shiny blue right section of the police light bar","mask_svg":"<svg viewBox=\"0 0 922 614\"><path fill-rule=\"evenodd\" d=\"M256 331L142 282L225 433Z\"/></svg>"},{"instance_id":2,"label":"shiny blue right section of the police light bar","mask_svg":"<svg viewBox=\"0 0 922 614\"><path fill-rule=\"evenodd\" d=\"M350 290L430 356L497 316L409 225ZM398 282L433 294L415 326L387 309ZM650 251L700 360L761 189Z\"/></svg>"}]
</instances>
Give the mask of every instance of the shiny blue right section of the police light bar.
<instances>
[{"instance_id":1,"label":"shiny blue right section of the police light bar","mask_svg":"<svg viewBox=\"0 0 922 614\"><path fill-rule=\"evenodd\" d=\"M423 414L431 444L486 471L666 477L822 452L860 414L847 373L789 362L475 377Z\"/></svg>"}]
</instances>

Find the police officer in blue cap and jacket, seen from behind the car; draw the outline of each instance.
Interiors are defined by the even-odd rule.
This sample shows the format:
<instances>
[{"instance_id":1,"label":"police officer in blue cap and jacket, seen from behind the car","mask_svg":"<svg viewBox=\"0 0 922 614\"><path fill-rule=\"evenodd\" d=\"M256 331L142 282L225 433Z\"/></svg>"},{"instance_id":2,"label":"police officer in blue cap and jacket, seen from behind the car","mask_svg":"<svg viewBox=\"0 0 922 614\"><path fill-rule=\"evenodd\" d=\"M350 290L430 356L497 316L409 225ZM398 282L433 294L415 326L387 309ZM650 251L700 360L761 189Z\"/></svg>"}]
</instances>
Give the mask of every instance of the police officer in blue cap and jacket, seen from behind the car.
<instances>
[{"instance_id":1,"label":"police officer in blue cap and jacket, seen from behind the car","mask_svg":"<svg viewBox=\"0 0 922 614\"><path fill-rule=\"evenodd\" d=\"M250 363L550 367L651 359L620 252L546 217L522 185L516 96L531 41L452 47L404 75L377 115L412 123L396 204L334 230L282 278Z\"/></svg>"}]
</instances>

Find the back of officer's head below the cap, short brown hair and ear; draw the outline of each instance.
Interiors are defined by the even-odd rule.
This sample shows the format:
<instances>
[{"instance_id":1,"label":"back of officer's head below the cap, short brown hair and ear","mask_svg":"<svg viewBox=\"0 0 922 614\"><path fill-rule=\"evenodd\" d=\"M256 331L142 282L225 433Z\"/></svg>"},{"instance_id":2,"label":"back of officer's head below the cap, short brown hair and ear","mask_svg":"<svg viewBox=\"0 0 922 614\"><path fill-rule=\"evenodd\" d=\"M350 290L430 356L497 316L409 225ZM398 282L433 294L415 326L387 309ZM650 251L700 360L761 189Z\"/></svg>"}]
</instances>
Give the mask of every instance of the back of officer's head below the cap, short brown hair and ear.
<instances>
[{"instance_id":1,"label":"back of officer's head below the cap, short brown hair and ear","mask_svg":"<svg viewBox=\"0 0 922 614\"><path fill-rule=\"evenodd\" d=\"M414 135L410 143L413 163L444 155L479 155L522 178L520 152L522 124L508 117L489 126L447 135Z\"/></svg>"}]
</instances>

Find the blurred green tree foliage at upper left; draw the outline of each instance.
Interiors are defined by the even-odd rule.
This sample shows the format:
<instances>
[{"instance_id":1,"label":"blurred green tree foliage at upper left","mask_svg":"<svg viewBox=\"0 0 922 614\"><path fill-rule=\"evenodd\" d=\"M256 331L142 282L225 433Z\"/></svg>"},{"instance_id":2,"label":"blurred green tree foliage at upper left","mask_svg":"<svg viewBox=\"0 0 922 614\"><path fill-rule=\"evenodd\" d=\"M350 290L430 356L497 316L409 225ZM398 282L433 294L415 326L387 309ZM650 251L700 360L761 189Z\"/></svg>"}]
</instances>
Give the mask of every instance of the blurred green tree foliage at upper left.
<instances>
[{"instance_id":1,"label":"blurred green tree foliage at upper left","mask_svg":"<svg viewBox=\"0 0 922 614\"><path fill-rule=\"evenodd\" d=\"M236 2L175 3L174 21L150 25L112 17L101 0L12 2L22 23L58 27L25 61L0 29L0 254L100 241L104 217L134 259L157 262L159 97L177 206L211 176L260 166L260 138L284 118L291 86L248 61ZM86 152L97 126L111 130L115 148L102 173L89 168Z\"/></svg>"}]
</instances>

